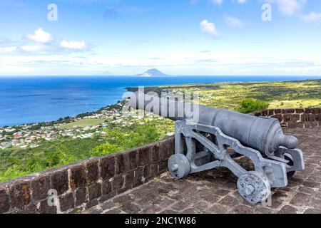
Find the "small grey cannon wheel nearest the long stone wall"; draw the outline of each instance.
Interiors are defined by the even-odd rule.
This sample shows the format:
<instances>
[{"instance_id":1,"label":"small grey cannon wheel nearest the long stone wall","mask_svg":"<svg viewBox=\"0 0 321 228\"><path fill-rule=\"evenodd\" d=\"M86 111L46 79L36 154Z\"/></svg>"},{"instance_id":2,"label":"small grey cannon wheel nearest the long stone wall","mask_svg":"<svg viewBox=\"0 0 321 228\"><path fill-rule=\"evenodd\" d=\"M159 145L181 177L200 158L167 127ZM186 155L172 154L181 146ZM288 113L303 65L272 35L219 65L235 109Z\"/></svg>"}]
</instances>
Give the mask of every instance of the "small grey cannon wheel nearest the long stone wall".
<instances>
[{"instance_id":1,"label":"small grey cannon wheel nearest the long stone wall","mask_svg":"<svg viewBox=\"0 0 321 228\"><path fill-rule=\"evenodd\" d=\"M190 161L183 154L175 154L168 159L168 171L172 177L181 179L190 173Z\"/></svg>"}]
</instances>

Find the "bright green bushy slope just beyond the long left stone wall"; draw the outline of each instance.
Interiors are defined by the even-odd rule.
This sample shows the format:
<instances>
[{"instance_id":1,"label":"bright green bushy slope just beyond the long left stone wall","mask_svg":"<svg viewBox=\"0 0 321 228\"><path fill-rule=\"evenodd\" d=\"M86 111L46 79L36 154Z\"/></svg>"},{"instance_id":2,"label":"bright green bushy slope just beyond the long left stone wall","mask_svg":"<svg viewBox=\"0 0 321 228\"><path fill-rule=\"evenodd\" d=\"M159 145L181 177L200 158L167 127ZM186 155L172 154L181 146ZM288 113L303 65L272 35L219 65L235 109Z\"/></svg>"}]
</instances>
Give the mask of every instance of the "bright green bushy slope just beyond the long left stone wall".
<instances>
[{"instance_id":1,"label":"bright green bushy slope just beyond the long left stone wall","mask_svg":"<svg viewBox=\"0 0 321 228\"><path fill-rule=\"evenodd\" d=\"M156 119L149 118L127 128L111 125L105 129L107 134L104 138L63 139L44 142L39 147L24 150L0 150L0 182L160 140L165 137L165 132L158 130L157 122ZM168 130L173 130L171 123L163 125L163 129L166 126Z\"/></svg>"}]
</instances>

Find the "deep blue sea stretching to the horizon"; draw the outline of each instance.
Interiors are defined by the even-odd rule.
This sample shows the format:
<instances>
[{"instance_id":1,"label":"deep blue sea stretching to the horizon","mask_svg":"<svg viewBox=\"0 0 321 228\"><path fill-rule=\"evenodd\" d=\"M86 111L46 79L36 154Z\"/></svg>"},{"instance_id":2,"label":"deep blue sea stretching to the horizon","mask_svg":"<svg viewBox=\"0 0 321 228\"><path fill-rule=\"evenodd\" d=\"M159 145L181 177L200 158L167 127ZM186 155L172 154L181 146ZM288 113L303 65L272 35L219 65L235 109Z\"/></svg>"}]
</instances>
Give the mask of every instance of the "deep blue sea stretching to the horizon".
<instances>
[{"instance_id":1,"label":"deep blue sea stretching to the horizon","mask_svg":"<svg viewBox=\"0 0 321 228\"><path fill-rule=\"evenodd\" d=\"M0 126L75 116L116 103L126 87L231 81L292 81L317 77L179 76L179 77L0 77ZM320 78L320 77L319 77Z\"/></svg>"}]
</instances>

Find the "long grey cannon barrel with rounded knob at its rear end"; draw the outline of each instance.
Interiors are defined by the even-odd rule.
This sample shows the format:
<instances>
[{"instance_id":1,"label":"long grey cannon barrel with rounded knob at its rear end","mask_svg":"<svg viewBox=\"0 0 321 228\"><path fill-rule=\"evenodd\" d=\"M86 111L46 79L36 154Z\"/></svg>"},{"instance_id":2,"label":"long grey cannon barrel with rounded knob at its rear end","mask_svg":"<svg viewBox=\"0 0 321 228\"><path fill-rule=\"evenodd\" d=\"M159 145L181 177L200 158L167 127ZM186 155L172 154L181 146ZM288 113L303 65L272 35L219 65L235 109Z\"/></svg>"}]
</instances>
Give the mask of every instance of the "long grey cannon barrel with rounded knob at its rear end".
<instances>
[{"instance_id":1,"label":"long grey cannon barrel with rounded knob at its rear end","mask_svg":"<svg viewBox=\"0 0 321 228\"><path fill-rule=\"evenodd\" d=\"M131 95L131 107L171 120L193 119L194 123L218 127L225 135L267 156L274 155L280 146L288 149L297 147L297 138L285 135L275 118L255 117L205 105L184 103L139 91Z\"/></svg>"}]
</instances>

